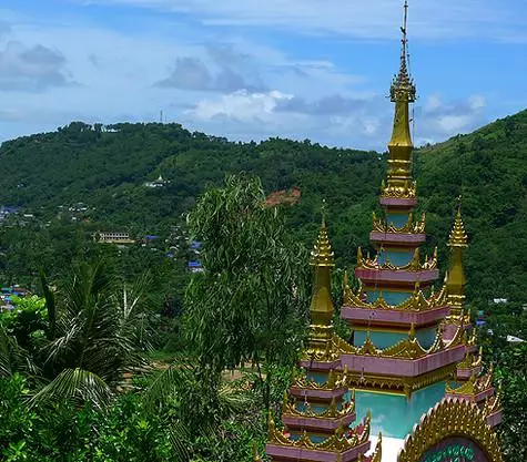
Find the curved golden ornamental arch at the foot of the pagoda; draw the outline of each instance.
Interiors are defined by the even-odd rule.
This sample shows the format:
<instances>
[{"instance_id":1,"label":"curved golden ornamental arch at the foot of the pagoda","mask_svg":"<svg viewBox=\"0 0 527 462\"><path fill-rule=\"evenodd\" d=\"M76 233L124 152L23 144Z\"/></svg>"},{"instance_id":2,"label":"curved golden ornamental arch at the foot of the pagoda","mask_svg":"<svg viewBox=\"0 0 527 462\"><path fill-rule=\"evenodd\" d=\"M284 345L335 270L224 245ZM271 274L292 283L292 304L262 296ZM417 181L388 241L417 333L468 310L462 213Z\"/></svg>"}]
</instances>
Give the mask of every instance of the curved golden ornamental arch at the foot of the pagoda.
<instances>
[{"instance_id":1,"label":"curved golden ornamental arch at the foot of the pagoda","mask_svg":"<svg viewBox=\"0 0 527 462\"><path fill-rule=\"evenodd\" d=\"M397 462L418 462L444 439L464 437L474 441L490 462L503 462L498 439L477 405L463 400L445 399L430 409L406 437Z\"/></svg>"}]
</instances>

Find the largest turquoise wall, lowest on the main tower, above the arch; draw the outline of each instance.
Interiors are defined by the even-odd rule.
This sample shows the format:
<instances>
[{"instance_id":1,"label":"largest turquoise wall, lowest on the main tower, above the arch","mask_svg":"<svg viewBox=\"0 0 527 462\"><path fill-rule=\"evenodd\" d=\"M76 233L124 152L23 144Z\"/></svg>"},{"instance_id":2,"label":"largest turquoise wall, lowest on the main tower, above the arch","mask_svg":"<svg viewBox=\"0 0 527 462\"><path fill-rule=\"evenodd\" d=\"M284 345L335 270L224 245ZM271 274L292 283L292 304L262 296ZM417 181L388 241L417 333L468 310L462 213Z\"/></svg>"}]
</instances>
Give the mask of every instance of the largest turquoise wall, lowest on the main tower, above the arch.
<instances>
[{"instance_id":1,"label":"largest turquoise wall, lowest on the main tower, above the arch","mask_svg":"<svg viewBox=\"0 0 527 462\"><path fill-rule=\"evenodd\" d=\"M383 432L383 437L405 438L420 417L445 396L445 382L438 382L406 397L356 391L357 421L372 412L372 434ZM347 397L349 399L349 397Z\"/></svg>"}]
</instances>

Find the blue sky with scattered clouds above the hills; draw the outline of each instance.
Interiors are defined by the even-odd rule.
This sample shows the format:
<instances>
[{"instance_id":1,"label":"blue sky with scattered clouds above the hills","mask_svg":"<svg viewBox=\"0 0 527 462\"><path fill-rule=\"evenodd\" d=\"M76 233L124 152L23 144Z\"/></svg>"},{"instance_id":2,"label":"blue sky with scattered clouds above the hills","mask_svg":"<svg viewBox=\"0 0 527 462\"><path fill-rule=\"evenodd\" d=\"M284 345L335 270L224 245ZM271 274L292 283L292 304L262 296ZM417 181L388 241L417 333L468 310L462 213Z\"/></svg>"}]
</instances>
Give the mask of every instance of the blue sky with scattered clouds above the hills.
<instances>
[{"instance_id":1,"label":"blue sky with scattered clouds above the hills","mask_svg":"<svg viewBox=\"0 0 527 462\"><path fill-rule=\"evenodd\" d=\"M384 151L403 0L2 0L0 141L71 121ZM409 0L416 144L527 107L526 0ZM162 114L161 114L162 113Z\"/></svg>"}]
</instances>

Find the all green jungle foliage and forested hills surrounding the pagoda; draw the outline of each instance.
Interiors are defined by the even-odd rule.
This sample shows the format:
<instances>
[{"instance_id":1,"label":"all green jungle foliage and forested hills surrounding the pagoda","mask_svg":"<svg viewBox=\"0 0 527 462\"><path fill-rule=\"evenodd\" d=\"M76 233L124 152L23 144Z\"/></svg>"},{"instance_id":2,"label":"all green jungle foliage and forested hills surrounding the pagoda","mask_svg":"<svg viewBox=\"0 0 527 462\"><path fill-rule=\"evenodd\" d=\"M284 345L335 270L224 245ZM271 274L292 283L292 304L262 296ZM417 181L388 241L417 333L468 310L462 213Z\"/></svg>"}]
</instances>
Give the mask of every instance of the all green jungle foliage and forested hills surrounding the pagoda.
<instances>
[{"instance_id":1,"label":"all green jungle foliage and forested hills surrounding the pagoda","mask_svg":"<svg viewBox=\"0 0 527 462\"><path fill-rule=\"evenodd\" d=\"M504 388L509 461L527 446L527 348L506 341L527 338L526 154L524 111L415 155L427 247L438 246L443 270L463 196L468 304L485 312L479 341ZM305 250L322 201L337 267L351 268L356 247L369 245L385 161L310 141L232 143L176 124L73 122L3 143L0 280L42 298L0 314L0 459L250 460L304 338ZM240 172L262 186L225 181ZM161 186L145 185L160 175ZM293 205L264 206L292 188ZM97 244L98 230L138 244ZM194 258L210 271L191 279Z\"/></svg>"}]
</instances>

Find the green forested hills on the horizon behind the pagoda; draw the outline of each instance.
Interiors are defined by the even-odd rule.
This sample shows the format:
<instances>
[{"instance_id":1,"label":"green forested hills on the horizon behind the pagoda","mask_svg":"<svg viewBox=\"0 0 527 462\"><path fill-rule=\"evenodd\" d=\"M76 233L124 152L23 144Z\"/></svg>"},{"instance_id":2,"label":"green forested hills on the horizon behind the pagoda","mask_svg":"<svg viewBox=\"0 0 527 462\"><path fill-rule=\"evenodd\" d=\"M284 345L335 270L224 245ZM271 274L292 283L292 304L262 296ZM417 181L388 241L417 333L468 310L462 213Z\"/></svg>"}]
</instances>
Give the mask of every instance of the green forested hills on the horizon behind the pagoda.
<instances>
[{"instance_id":1,"label":"green forested hills on the horizon behind the pagoda","mask_svg":"<svg viewBox=\"0 0 527 462\"><path fill-rule=\"evenodd\" d=\"M428 244L439 245L443 261L455 198L464 197L473 298L527 301L521 290L527 286L526 155L527 111L417 152ZM78 228L133 236L165 233L226 173L254 173L270 193L300 188L300 201L287 214L292 232L306 244L314 238L325 198L338 261L352 266L356 246L367 246L385 155L308 141L232 143L178 124L102 127L74 122L54 133L3 143L0 168L1 205L22 207L51 228L73 219L64 213L69 207L84 208L74 217ZM160 175L165 181L160 187L145 185Z\"/></svg>"}]
</instances>

